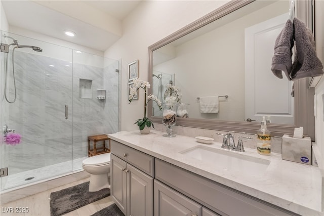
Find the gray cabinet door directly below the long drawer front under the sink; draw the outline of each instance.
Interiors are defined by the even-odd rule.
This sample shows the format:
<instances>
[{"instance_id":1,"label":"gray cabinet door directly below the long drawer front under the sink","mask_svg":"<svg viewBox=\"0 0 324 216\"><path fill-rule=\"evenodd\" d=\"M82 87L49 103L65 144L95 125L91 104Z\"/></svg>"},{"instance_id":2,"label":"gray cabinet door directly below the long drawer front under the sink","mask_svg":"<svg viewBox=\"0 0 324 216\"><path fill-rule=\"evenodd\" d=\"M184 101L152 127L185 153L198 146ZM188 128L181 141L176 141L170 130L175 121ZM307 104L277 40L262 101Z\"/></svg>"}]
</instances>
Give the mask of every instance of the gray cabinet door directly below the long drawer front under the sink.
<instances>
[{"instance_id":1,"label":"gray cabinet door directly below the long drawer front under the sink","mask_svg":"<svg viewBox=\"0 0 324 216\"><path fill-rule=\"evenodd\" d=\"M202 206L179 192L154 180L154 215L199 215Z\"/></svg>"}]
</instances>

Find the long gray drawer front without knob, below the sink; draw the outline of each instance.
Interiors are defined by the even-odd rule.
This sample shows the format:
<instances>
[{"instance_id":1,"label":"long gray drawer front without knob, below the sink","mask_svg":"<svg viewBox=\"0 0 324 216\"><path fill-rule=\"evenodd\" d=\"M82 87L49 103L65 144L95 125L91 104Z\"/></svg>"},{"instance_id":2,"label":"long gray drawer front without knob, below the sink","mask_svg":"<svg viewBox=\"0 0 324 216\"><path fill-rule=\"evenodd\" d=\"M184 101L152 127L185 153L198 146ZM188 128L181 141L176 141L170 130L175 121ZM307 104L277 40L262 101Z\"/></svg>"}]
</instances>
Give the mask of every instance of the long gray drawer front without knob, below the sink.
<instances>
[{"instance_id":1,"label":"long gray drawer front without knob, below the sink","mask_svg":"<svg viewBox=\"0 0 324 216\"><path fill-rule=\"evenodd\" d=\"M159 159L155 178L221 215L296 215Z\"/></svg>"}]
</instances>

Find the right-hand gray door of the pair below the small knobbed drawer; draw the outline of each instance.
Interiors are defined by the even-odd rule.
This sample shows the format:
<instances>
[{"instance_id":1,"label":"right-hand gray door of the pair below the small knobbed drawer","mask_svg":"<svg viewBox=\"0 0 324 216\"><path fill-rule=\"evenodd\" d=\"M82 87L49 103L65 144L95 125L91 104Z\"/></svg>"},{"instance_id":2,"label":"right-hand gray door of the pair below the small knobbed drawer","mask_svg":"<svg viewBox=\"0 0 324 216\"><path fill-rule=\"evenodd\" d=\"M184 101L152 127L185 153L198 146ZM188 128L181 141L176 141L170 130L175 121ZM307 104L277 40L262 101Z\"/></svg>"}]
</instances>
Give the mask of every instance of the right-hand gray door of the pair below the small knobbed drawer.
<instances>
[{"instance_id":1,"label":"right-hand gray door of the pair below the small knobbed drawer","mask_svg":"<svg viewBox=\"0 0 324 216\"><path fill-rule=\"evenodd\" d=\"M127 164L127 215L153 215L153 178Z\"/></svg>"}]
</instances>

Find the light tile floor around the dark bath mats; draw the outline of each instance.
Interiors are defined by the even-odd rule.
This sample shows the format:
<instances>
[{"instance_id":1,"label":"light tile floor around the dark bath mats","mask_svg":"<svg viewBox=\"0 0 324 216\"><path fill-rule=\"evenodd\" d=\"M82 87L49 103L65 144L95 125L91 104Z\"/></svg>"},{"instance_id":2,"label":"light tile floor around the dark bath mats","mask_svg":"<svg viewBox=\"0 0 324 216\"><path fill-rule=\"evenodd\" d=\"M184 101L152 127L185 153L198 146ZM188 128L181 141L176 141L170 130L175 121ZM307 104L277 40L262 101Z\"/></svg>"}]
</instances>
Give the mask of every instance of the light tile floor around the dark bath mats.
<instances>
[{"instance_id":1,"label":"light tile floor around the dark bath mats","mask_svg":"<svg viewBox=\"0 0 324 216\"><path fill-rule=\"evenodd\" d=\"M84 182L89 181L89 178L84 178L76 182L72 182L48 191L44 191L35 195L31 195L22 199L18 199L9 203L6 203L0 207L1 216L12 216L12 215L28 215L28 216L50 216L50 194L55 191L62 190L64 188L72 187ZM86 206L78 208L74 211L70 211L64 215L66 216L88 216L94 214L95 212L109 206L113 201L111 197L106 197L96 202L90 203ZM11 208L15 210L17 208L28 208L28 212L7 212Z\"/></svg>"}]
</instances>

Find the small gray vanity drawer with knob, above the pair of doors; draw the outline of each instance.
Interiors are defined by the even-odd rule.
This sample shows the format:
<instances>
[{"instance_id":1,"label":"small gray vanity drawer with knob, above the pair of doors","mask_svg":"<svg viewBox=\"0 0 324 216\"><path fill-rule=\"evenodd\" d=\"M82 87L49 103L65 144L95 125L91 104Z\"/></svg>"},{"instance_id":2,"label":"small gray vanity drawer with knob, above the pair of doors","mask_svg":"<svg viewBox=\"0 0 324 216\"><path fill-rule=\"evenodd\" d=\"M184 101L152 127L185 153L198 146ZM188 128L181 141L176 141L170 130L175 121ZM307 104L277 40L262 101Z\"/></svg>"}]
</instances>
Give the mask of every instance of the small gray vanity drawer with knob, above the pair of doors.
<instances>
[{"instance_id":1,"label":"small gray vanity drawer with knob, above the pair of doors","mask_svg":"<svg viewBox=\"0 0 324 216\"><path fill-rule=\"evenodd\" d=\"M154 177L154 157L111 140L111 153Z\"/></svg>"}]
</instances>

